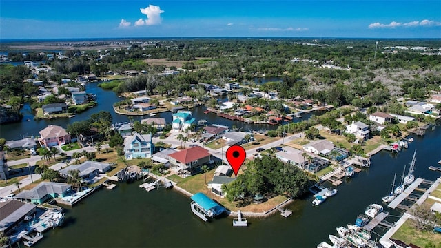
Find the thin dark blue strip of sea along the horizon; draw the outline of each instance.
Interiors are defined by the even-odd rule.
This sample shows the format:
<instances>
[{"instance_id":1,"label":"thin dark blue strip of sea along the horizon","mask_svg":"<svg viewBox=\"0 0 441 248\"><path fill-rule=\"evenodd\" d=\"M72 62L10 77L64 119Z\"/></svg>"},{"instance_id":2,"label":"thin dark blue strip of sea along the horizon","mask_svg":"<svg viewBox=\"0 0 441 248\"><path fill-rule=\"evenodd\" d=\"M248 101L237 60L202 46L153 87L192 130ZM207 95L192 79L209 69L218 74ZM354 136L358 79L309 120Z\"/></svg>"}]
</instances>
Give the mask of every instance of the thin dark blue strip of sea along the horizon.
<instances>
[{"instance_id":1,"label":"thin dark blue strip of sea along the horizon","mask_svg":"<svg viewBox=\"0 0 441 248\"><path fill-rule=\"evenodd\" d=\"M31 42L31 41L99 41L127 39L366 39L366 40L440 40L441 38L411 38L411 37L82 37L82 38L0 38L0 43Z\"/></svg>"}]
</instances>

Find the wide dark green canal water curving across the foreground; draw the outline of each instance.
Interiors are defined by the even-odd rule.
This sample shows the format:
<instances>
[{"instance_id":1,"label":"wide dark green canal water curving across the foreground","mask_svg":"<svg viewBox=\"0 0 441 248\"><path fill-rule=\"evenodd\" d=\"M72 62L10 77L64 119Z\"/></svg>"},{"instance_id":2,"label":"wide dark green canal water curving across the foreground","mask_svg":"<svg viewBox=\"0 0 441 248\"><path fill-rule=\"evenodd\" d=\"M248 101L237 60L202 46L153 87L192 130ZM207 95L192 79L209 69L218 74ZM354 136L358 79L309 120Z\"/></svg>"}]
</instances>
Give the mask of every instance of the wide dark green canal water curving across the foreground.
<instances>
[{"instance_id":1,"label":"wide dark green canal water curving across the foreground","mask_svg":"<svg viewBox=\"0 0 441 248\"><path fill-rule=\"evenodd\" d=\"M322 205L313 207L311 196L295 200L288 206L293 211L289 218L276 214L249 219L249 227L241 228L232 227L230 218L203 223L190 211L191 200L173 190L146 192L138 187L141 182L120 183L66 209L65 225L45 233L35 247L316 247L329 242L336 227L353 223L370 203L382 204L393 174L402 174L404 165L409 168L415 150L415 175L427 180L441 176L428 169L441 159L441 127L414 138L409 149L398 154L374 155L369 169L345 180L338 194ZM391 215L387 220L398 220L393 216L400 211L385 209Z\"/></svg>"}]
</instances>

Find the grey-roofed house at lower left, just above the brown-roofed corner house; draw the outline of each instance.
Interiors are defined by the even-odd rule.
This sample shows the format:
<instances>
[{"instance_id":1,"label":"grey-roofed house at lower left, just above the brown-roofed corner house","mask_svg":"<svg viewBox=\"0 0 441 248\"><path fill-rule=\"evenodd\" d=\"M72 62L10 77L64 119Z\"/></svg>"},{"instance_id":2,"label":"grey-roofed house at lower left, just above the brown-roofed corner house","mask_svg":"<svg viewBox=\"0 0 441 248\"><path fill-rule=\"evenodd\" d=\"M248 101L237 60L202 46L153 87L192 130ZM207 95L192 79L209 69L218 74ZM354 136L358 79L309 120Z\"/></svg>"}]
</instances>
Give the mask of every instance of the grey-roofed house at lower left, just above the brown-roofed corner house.
<instances>
[{"instance_id":1,"label":"grey-roofed house at lower left, just above the brown-roofed corner house","mask_svg":"<svg viewBox=\"0 0 441 248\"><path fill-rule=\"evenodd\" d=\"M72 194L72 185L67 183L43 182L30 190L23 190L15 199L25 203L42 204L53 198L63 198Z\"/></svg>"}]
</instances>

